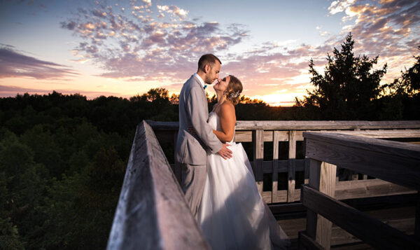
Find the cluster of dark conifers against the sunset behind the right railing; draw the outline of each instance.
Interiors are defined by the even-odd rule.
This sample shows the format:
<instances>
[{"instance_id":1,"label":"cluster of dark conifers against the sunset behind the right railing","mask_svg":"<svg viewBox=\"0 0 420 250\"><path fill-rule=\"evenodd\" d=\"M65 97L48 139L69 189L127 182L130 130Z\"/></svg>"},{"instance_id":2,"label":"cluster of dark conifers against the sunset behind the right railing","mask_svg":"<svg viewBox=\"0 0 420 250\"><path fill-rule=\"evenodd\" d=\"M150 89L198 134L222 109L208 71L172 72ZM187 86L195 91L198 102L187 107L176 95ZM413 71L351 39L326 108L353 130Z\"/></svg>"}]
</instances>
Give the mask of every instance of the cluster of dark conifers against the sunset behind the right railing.
<instances>
[{"instance_id":1,"label":"cluster of dark conifers against the sunset behind the right railing","mask_svg":"<svg viewBox=\"0 0 420 250\"><path fill-rule=\"evenodd\" d=\"M311 83L296 106L304 107L305 117L313 120L401 120L419 118L420 57L413 67L402 72L391 84L380 85L386 64L374 69L378 58L355 56L354 40L349 34L341 50L334 48L327 55L324 74L309 62Z\"/></svg>"}]
</instances>

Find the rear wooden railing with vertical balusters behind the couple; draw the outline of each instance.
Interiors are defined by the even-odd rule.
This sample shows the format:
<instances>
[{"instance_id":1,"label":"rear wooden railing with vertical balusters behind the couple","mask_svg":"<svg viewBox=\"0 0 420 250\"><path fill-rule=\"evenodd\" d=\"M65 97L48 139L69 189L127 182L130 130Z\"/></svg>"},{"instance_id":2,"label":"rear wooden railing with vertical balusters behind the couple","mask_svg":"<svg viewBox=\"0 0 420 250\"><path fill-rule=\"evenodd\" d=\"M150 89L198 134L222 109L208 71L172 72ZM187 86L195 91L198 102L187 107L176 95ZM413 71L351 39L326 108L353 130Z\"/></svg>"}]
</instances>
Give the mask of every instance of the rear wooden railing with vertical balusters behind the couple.
<instances>
[{"instance_id":1,"label":"rear wooden railing with vertical balusters behind the couple","mask_svg":"<svg viewBox=\"0 0 420 250\"><path fill-rule=\"evenodd\" d=\"M176 145L178 122L148 121L161 143ZM237 121L236 142L252 142L253 158L250 158L255 181L262 197L268 204L276 202L298 202L300 189L296 188L296 172L303 172L304 183L309 183L309 160L296 159L297 142L303 141L303 132L339 132L376 138L416 138L420 141L420 121ZM272 159L264 161L265 142L272 142ZM279 155L279 143L288 144L288 154ZM266 151L267 152L267 151ZM280 157L283 156L283 157ZM285 160L280 160L286 158ZM181 170L172 165L177 179ZM340 166L339 166L340 167ZM279 173L287 173L287 188L279 189ZM264 174L270 176L271 188L262 190ZM267 176L266 176L267 177ZM266 178L267 180L267 178ZM267 185L266 185L267 186ZM335 197L371 197L413 193L415 191L379 179L358 178L354 172L350 181L338 181Z\"/></svg>"}]
</instances>

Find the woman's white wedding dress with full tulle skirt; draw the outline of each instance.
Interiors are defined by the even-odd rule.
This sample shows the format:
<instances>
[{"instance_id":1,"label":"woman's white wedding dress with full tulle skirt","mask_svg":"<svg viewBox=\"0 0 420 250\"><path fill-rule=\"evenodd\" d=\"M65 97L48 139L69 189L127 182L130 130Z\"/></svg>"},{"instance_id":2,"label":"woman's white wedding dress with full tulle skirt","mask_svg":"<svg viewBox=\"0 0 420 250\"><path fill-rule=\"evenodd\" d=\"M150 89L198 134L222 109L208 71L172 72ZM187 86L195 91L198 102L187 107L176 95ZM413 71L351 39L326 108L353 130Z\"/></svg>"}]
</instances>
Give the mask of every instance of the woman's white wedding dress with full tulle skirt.
<instances>
[{"instance_id":1,"label":"woman's white wedding dress with full tulle skirt","mask_svg":"<svg viewBox=\"0 0 420 250\"><path fill-rule=\"evenodd\" d=\"M221 130L214 112L209 124ZM207 180L198 211L204 236L214 250L286 249L288 237L258 192L244 148L233 140L229 144L229 160L207 154Z\"/></svg>"}]
</instances>

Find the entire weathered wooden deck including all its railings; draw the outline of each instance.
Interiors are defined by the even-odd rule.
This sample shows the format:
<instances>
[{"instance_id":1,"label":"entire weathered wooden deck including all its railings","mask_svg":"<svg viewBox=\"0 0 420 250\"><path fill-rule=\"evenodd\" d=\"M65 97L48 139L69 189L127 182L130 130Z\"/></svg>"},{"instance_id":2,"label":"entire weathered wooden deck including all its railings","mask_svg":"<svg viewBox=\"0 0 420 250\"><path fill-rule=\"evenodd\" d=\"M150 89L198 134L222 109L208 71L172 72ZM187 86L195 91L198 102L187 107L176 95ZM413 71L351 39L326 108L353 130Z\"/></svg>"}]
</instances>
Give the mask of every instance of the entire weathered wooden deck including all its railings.
<instances>
[{"instance_id":1,"label":"entire weathered wooden deck including all its railings","mask_svg":"<svg viewBox=\"0 0 420 250\"><path fill-rule=\"evenodd\" d=\"M209 248L183 199L181 172L160 146L177 132L177 123L137 127L107 249ZM291 249L420 249L420 146L384 139L419 141L420 121L238 121L235 134L253 144L256 184ZM272 160L264 158L268 141Z\"/></svg>"}]
</instances>

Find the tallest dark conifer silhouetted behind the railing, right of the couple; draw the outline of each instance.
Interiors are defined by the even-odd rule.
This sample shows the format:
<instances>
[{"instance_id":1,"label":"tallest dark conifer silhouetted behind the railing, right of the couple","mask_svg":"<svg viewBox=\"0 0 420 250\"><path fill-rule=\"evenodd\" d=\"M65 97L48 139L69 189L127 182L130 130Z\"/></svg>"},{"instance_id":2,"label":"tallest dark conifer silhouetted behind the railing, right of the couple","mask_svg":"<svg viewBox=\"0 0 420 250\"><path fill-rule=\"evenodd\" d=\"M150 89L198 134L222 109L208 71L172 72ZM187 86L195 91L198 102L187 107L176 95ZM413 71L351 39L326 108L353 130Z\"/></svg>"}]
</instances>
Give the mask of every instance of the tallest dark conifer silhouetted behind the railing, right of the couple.
<instances>
[{"instance_id":1,"label":"tallest dark conifer silhouetted behind the railing, right of the couple","mask_svg":"<svg viewBox=\"0 0 420 250\"><path fill-rule=\"evenodd\" d=\"M304 99L295 99L296 106L304 106L315 118L334 120L360 120L374 117L374 99L381 92L380 81L386 73L386 64L373 69L378 57L372 60L366 55L357 57L353 53L354 40L346 36L341 50L334 48L333 55L327 55L323 75L309 62L313 91L307 90Z\"/></svg>"}]
</instances>

